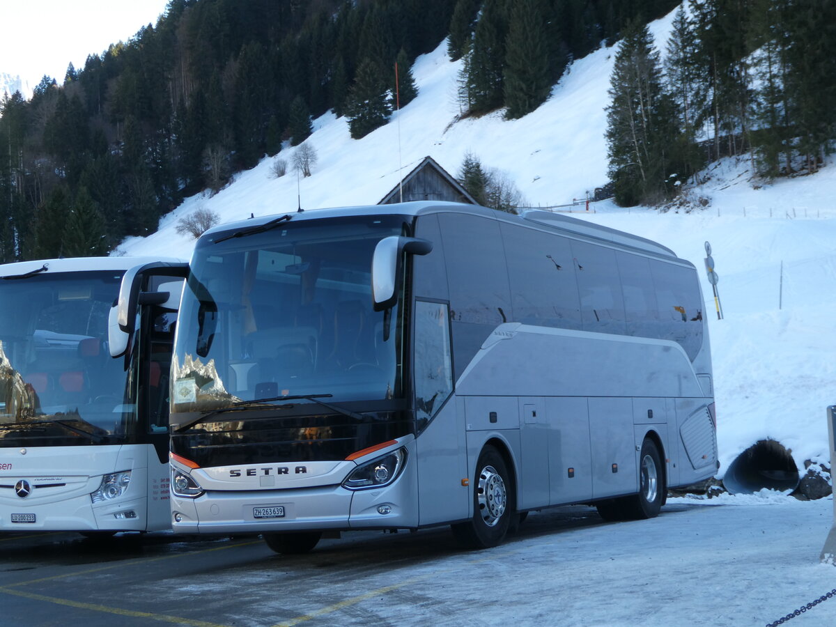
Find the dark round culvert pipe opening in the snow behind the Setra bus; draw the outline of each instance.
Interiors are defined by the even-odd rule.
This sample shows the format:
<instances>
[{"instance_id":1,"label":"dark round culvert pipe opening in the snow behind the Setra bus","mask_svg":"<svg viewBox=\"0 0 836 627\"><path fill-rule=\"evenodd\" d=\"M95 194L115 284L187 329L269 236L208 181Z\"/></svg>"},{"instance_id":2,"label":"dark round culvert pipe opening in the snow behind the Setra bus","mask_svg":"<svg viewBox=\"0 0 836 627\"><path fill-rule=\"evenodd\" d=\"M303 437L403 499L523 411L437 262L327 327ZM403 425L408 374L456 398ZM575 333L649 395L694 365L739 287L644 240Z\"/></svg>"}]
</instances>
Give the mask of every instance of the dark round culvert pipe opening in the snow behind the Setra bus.
<instances>
[{"instance_id":1,"label":"dark round culvert pipe opening in the snow behind the Setra bus","mask_svg":"<svg viewBox=\"0 0 836 627\"><path fill-rule=\"evenodd\" d=\"M763 488L792 492L798 487L798 467L781 442L761 440L735 457L723 476L732 494L753 494Z\"/></svg>"}]
</instances>

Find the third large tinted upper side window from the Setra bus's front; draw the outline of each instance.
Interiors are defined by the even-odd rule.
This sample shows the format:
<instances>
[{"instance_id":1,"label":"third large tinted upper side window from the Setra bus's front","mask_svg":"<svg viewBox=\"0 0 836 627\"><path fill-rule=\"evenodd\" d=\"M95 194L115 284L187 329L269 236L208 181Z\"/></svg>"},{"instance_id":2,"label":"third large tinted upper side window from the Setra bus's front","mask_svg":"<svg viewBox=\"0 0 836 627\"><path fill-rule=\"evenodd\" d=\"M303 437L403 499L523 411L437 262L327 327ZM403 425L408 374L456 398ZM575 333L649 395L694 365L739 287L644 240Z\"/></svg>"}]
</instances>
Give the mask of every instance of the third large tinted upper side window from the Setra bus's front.
<instances>
[{"instance_id":1,"label":"third large tinted upper side window from the Setra bus's front","mask_svg":"<svg viewBox=\"0 0 836 627\"><path fill-rule=\"evenodd\" d=\"M624 300L615 251L586 242L572 242L572 252L584 331L623 334Z\"/></svg>"}]
</instances>

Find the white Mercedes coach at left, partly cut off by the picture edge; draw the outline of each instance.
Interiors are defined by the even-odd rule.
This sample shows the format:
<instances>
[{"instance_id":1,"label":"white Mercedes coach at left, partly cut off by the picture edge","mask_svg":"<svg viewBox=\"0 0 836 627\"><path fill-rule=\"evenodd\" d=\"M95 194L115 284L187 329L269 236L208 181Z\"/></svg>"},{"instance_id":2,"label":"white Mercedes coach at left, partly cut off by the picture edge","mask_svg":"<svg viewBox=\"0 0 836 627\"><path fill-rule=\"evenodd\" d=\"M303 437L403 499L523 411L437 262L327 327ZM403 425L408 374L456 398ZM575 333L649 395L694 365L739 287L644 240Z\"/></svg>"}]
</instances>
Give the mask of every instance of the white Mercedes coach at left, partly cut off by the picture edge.
<instances>
[{"instance_id":1,"label":"white Mercedes coach at left, partly cut off by the picture edge","mask_svg":"<svg viewBox=\"0 0 836 627\"><path fill-rule=\"evenodd\" d=\"M185 274L129 257L0 266L0 531L171 528L168 375ZM134 316L110 329L123 278Z\"/></svg>"}]
</instances>

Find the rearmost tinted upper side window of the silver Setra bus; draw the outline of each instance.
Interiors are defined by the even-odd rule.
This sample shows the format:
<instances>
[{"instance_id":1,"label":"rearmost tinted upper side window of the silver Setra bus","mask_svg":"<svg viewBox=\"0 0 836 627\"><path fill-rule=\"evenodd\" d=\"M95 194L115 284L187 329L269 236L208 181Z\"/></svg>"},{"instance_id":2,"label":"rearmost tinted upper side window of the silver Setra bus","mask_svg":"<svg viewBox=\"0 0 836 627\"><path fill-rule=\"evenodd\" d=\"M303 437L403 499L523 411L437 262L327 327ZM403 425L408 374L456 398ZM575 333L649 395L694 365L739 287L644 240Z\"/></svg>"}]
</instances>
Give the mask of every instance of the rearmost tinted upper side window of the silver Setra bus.
<instances>
[{"instance_id":1,"label":"rearmost tinted upper side window of the silver Setra bus","mask_svg":"<svg viewBox=\"0 0 836 627\"><path fill-rule=\"evenodd\" d=\"M679 342L694 359L702 346L702 298L696 273L691 268L653 261L656 301L659 305L660 337Z\"/></svg>"}]
</instances>

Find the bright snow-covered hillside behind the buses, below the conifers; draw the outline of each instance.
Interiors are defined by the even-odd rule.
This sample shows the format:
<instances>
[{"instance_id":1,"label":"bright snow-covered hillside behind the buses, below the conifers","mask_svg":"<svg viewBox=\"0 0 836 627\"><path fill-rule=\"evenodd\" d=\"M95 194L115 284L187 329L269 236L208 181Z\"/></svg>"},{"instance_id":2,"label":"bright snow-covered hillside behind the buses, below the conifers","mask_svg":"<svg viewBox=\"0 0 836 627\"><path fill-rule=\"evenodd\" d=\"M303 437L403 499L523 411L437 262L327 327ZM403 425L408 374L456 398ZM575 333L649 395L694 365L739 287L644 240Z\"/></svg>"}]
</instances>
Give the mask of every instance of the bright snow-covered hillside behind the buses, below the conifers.
<instances>
[{"instance_id":1,"label":"bright snow-covered hillside behind the buses, below the conifers","mask_svg":"<svg viewBox=\"0 0 836 627\"><path fill-rule=\"evenodd\" d=\"M671 14L672 15L672 14ZM671 15L652 25L664 50ZM308 142L319 153L314 175L270 175L265 158L216 196L193 196L163 217L150 237L130 238L117 254L191 253L193 241L176 223L197 207L222 222L306 209L374 204L431 155L458 171L467 151L487 167L507 172L531 205L553 206L584 197L606 176L605 113L614 48L579 59L555 86L551 98L522 120L502 112L456 122L459 63L446 58L444 43L417 59L413 73L420 93L389 125L363 140L351 140L344 118L315 120ZM400 151L399 151L400 145ZM278 158L289 161L291 148ZM399 166L402 164L402 166ZM660 213L593 203L594 213L574 214L657 240L700 270L706 315L711 320L719 446L723 469L764 438L791 449L804 461L828 461L825 408L836 403L836 165L815 176L767 184L752 177L747 160L711 166L705 184L690 188L705 209ZM721 306L717 320L703 258L711 242Z\"/></svg>"}]
</instances>

